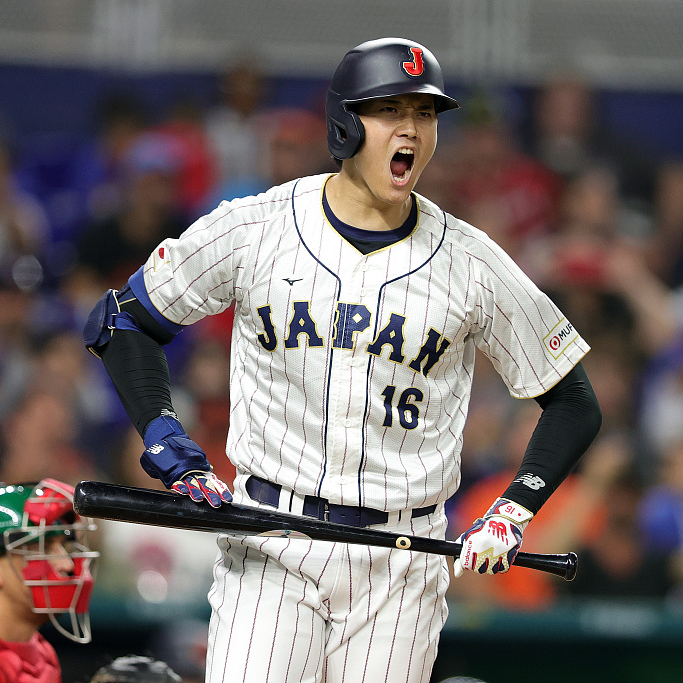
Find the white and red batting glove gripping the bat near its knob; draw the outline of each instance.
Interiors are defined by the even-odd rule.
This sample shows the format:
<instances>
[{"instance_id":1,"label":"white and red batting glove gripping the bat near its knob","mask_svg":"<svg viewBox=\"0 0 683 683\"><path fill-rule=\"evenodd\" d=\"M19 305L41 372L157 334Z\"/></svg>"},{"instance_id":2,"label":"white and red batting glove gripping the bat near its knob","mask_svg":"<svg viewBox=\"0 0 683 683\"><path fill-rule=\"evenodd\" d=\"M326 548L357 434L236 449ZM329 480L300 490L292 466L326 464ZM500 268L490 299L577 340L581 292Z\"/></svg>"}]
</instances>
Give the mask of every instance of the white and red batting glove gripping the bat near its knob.
<instances>
[{"instance_id":1,"label":"white and red batting glove gripping the bat near its knob","mask_svg":"<svg viewBox=\"0 0 683 683\"><path fill-rule=\"evenodd\" d=\"M522 533L533 516L518 503L498 498L484 517L458 539L462 550L453 562L453 575L457 578L465 569L479 574L506 572L519 552Z\"/></svg>"}]
</instances>

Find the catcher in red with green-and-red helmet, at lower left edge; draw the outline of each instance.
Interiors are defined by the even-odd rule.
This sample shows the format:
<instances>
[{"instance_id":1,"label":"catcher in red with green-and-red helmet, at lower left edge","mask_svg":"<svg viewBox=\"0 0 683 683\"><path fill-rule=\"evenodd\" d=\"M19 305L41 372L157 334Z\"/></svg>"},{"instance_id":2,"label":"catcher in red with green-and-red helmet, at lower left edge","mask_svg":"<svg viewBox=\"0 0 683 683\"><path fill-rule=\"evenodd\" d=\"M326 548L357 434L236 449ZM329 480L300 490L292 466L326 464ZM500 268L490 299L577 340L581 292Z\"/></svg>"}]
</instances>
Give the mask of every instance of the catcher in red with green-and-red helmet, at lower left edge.
<instances>
[{"instance_id":1,"label":"catcher in red with green-and-red helmet, at lower left edge","mask_svg":"<svg viewBox=\"0 0 683 683\"><path fill-rule=\"evenodd\" d=\"M57 654L38 631L48 619L90 642L91 519L73 510L73 488L56 479L0 484L0 683L60 683ZM63 625L59 614L67 614Z\"/></svg>"}]
</instances>

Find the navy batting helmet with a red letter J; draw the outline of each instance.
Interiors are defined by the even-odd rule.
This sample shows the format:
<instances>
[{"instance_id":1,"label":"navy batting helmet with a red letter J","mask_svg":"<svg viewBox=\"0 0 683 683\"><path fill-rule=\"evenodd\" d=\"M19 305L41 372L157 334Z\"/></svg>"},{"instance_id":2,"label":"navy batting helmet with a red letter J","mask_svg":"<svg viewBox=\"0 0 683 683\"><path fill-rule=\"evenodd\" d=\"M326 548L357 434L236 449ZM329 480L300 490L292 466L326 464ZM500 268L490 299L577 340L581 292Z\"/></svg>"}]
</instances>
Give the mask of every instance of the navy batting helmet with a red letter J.
<instances>
[{"instance_id":1,"label":"navy batting helmet with a red letter J","mask_svg":"<svg viewBox=\"0 0 683 683\"><path fill-rule=\"evenodd\" d=\"M436 57L403 38L361 43L344 55L327 91L327 146L337 159L350 159L363 144L363 124L352 108L364 100L407 93L434 95L436 113L460 105L444 93Z\"/></svg>"}]
</instances>

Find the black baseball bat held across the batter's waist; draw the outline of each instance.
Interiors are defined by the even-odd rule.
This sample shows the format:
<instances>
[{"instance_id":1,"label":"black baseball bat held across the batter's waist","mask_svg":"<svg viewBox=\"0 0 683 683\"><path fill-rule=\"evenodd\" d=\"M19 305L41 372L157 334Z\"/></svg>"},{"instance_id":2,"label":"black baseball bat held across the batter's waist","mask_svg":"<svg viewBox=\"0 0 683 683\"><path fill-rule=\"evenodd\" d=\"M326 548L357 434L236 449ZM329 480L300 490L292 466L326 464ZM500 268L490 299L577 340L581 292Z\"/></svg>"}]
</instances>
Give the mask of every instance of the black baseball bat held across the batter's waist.
<instances>
[{"instance_id":1,"label":"black baseball bat held across the batter's waist","mask_svg":"<svg viewBox=\"0 0 683 683\"><path fill-rule=\"evenodd\" d=\"M314 517L234 503L213 508L206 502L195 503L187 496L170 491L121 486L101 481L82 481L76 486L74 510L84 517L118 522L217 533L304 537L318 541L416 550L451 557L457 557L462 549L462 545L455 541L357 528L347 524L321 521ZM571 581L576 576L577 559L576 553L544 555L520 551L515 557L514 564L555 574Z\"/></svg>"}]
</instances>

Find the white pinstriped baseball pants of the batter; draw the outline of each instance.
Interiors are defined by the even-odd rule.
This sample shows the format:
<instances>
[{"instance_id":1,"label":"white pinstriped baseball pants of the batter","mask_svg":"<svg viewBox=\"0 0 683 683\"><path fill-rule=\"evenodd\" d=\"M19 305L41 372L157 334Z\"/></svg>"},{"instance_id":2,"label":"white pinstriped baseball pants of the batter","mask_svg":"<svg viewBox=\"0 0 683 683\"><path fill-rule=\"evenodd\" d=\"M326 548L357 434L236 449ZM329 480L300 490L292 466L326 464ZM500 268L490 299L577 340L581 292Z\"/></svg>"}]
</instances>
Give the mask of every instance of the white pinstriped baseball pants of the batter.
<instances>
[{"instance_id":1,"label":"white pinstriped baseball pants of the batter","mask_svg":"<svg viewBox=\"0 0 683 683\"><path fill-rule=\"evenodd\" d=\"M442 510L397 530L441 537L445 526ZM444 558L281 538L219 545L207 683L428 683Z\"/></svg>"}]
</instances>

